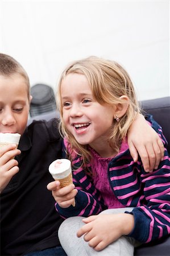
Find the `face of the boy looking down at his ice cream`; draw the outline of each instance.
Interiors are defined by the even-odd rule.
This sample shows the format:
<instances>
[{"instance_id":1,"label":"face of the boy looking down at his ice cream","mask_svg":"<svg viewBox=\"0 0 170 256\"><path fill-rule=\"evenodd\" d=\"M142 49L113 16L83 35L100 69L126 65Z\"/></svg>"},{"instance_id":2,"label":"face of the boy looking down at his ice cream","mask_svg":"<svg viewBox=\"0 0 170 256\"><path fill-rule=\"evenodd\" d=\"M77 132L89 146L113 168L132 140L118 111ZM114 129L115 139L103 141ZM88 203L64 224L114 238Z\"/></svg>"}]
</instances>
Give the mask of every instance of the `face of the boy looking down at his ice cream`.
<instances>
[{"instance_id":1,"label":"face of the boy looking down at his ice cream","mask_svg":"<svg viewBox=\"0 0 170 256\"><path fill-rule=\"evenodd\" d=\"M19 74L0 75L0 132L23 134L30 109L28 87Z\"/></svg>"}]
</instances>

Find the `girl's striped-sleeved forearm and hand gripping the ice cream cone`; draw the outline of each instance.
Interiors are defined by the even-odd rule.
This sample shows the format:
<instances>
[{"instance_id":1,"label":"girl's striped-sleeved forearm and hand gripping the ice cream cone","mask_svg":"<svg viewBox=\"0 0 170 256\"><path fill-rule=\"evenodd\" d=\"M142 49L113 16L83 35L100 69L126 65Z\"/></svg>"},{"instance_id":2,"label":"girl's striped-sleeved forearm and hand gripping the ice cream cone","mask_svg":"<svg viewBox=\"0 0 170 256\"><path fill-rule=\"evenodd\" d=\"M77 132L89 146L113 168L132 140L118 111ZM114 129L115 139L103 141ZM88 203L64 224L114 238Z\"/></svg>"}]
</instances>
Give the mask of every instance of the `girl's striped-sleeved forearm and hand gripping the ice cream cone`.
<instances>
[{"instance_id":1,"label":"girl's striped-sleeved forearm and hand gripping the ice cream cone","mask_svg":"<svg viewBox=\"0 0 170 256\"><path fill-rule=\"evenodd\" d=\"M92 214L98 214L103 210L102 197L94 188L94 185L90 183L83 170L73 172L73 183L74 185L60 188L59 181L53 181L47 186L52 191L52 195L57 202L56 210L61 216L65 218L71 216L87 217ZM72 206L74 196L75 207Z\"/></svg>"}]
</instances>

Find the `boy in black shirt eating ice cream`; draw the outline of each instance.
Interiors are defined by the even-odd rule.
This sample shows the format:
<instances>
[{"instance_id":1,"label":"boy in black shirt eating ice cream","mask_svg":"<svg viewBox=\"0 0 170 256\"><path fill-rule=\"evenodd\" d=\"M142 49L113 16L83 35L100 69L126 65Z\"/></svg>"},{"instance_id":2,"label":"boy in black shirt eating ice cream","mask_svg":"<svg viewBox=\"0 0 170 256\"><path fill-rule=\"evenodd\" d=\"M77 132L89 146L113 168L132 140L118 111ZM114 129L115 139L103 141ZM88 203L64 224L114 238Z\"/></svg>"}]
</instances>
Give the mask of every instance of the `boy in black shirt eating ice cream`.
<instances>
[{"instance_id":1,"label":"boy in black shirt eating ice cream","mask_svg":"<svg viewBox=\"0 0 170 256\"><path fill-rule=\"evenodd\" d=\"M30 101L27 73L0 53L0 132L22 134L18 149L14 144L0 150L1 255L64 256L57 236L63 219L46 188L53 180L49 164L62 157L62 140L56 119L26 129Z\"/></svg>"}]
</instances>

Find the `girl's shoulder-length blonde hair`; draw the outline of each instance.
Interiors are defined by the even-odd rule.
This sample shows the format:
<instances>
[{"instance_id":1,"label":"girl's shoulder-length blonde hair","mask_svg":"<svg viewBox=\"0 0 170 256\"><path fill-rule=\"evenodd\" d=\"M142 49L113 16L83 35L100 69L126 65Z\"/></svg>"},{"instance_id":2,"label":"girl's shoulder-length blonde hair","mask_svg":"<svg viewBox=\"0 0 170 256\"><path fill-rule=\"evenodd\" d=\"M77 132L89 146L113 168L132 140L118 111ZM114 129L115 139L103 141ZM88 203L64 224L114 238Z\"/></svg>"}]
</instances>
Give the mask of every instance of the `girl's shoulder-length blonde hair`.
<instances>
[{"instance_id":1,"label":"girl's shoulder-length blonde hair","mask_svg":"<svg viewBox=\"0 0 170 256\"><path fill-rule=\"evenodd\" d=\"M74 61L65 68L64 72L61 74L57 88L57 107L59 108L61 117L60 132L69 142L69 158L72 158L71 155L73 155L73 152L76 152L76 154L82 156L84 164L86 165L90 160L90 154L87 148L88 145L77 143L76 139L74 139L63 122L61 84L69 73L84 75L88 80L94 99L101 105L125 103L120 97L122 95L128 97L128 109L126 114L120 118L119 122L114 119L113 125L110 128L108 142L110 146L117 151L119 151L122 139L125 139L127 131L134 121L136 114L140 112L140 108L130 76L125 69L115 61L91 56L86 59Z\"/></svg>"}]
</instances>

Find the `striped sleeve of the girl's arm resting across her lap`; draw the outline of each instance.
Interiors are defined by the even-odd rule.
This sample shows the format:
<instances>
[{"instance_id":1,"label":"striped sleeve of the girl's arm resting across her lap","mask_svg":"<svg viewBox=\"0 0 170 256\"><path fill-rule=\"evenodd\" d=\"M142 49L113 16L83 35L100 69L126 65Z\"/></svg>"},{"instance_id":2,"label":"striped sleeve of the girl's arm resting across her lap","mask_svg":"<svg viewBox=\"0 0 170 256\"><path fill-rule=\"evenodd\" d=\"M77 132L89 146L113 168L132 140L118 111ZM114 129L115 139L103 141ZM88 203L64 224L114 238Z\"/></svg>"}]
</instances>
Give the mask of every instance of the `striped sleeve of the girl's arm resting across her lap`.
<instances>
[{"instance_id":1,"label":"striped sleeve of the girl's arm resting across her lap","mask_svg":"<svg viewBox=\"0 0 170 256\"><path fill-rule=\"evenodd\" d=\"M170 159L165 150L164 160L157 171L141 174L146 203L135 207L135 226L129 236L141 242L150 242L170 234Z\"/></svg>"}]
</instances>

